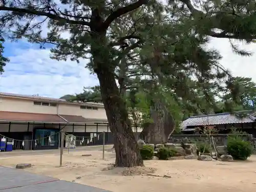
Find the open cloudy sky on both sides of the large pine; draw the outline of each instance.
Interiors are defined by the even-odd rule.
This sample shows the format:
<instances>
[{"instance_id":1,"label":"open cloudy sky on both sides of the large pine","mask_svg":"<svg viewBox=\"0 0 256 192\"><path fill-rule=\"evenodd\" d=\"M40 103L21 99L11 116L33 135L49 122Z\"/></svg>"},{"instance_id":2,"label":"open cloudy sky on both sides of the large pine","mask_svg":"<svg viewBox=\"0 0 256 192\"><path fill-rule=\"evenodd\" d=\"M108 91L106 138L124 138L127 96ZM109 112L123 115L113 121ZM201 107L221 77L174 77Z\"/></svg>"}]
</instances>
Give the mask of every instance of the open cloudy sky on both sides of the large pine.
<instances>
[{"instance_id":1,"label":"open cloudy sky on both sides of the large pine","mask_svg":"<svg viewBox=\"0 0 256 192\"><path fill-rule=\"evenodd\" d=\"M255 52L256 44L241 48ZM256 82L256 55L234 55L227 39L212 39L208 48L219 50L223 56L220 63L235 76L251 77ZM80 93L83 87L95 86L98 80L86 66L87 60L56 61L50 59L50 47L42 50L39 45L26 40L5 43L5 56L10 62L0 77L0 92L18 93L59 98L66 94Z\"/></svg>"}]
</instances>

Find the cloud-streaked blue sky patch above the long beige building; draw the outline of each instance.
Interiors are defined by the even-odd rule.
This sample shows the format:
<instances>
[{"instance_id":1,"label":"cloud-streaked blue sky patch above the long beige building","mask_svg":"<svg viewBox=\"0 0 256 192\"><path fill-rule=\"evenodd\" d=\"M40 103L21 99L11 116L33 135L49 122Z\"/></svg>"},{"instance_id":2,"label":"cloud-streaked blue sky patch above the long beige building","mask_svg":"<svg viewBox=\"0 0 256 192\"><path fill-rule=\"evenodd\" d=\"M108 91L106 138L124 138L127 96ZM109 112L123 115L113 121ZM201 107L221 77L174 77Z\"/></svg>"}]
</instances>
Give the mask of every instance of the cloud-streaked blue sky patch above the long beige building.
<instances>
[{"instance_id":1,"label":"cloud-streaked blue sky patch above the long beige building","mask_svg":"<svg viewBox=\"0 0 256 192\"><path fill-rule=\"evenodd\" d=\"M15 49L1 77L1 92L61 97L80 93L98 84L97 77L84 69L87 60L56 61L49 50Z\"/></svg>"}]
</instances>

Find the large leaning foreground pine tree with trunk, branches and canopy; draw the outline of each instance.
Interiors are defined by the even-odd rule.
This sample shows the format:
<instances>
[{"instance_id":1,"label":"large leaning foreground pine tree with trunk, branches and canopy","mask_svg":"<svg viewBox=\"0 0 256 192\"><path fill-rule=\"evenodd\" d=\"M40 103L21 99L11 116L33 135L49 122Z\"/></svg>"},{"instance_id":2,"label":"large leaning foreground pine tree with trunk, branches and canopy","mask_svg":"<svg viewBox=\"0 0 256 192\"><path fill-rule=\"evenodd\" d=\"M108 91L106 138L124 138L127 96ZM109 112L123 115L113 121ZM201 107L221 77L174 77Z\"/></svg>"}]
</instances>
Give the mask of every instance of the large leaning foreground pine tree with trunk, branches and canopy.
<instances>
[{"instance_id":1,"label":"large leaning foreground pine tree with trunk, branches and canopy","mask_svg":"<svg viewBox=\"0 0 256 192\"><path fill-rule=\"evenodd\" d=\"M202 45L209 36L250 42L256 32L255 10L255 2L249 0L197 1L196 5L189 0L167 5L156 0L10 0L0 3L0 32L12 39L26 37L42 47L53 44L52 58L57 60L89 57L87 67L99 79L115 138L116 165L136 166L143 161L116 79L122 88L127 75L149 76L147 89L169 80L181 95L177 99L185 99L193 94L185 92L186 78L193 76L205 93L226 73L218 63L219 53ZM64 32L68 32L65 37Z\"/></svg>"}]
</instances>

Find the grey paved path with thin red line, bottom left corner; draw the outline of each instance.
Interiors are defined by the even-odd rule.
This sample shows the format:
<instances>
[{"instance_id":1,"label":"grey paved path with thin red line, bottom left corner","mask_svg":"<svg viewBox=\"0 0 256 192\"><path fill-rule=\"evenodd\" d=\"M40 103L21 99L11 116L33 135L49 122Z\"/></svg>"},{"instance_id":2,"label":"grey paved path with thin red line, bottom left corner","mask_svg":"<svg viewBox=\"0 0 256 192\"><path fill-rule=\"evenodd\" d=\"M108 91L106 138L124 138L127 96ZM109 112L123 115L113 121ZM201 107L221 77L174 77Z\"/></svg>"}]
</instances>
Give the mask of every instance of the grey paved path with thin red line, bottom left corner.
<instances>
[{"instance_id":1,"label":"grey paved path with thin red line, bottom left corner","mask_svg":"<svg viewBox=\"0 0 256 192\"><path fill-rule=\"evenodd\" d=\"M111 192L0 166L0 192Z\"/></svg>"}]
</instances>

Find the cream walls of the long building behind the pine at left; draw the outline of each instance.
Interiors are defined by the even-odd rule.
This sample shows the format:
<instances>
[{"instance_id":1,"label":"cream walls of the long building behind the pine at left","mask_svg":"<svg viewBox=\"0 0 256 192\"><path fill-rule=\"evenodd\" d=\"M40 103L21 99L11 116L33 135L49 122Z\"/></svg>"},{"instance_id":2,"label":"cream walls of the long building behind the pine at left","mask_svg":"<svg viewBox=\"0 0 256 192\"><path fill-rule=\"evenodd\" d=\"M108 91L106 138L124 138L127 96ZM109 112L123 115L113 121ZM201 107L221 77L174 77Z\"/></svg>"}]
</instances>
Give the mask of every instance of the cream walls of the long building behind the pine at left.
<instances>
[{"instance_id":1,"label":"cream walls of the long building behind the pine at left","mask_svg":"<svg viewBox=\"0 0 256 192\"><path fill-rule=\"evenodd\" d=\"M35 100L36 101L36 100ZM48 102L48 101L42 101ZM52 101L54 103L54 101ZM89 105L88 105L89 106ZM95 106L98 110L88 110L88 109L80 109L79 104L72 103L59 103L58 106L42 106L42 105L34 105L34 100L23 99L23 98L9 98L9 97L1 97L0 98L0 111L8 111L8 112L22 112L22 113L41 113L41 114L60 114L60 115L77 115L82 116L88 121L90 119L99 119L103 122L107 121L106 113L103 106ZM92 126L93 125L93 126ZM87 123L86 132L88 133L96 133L97 127L96 124ZM103 126L102 126L103 125ZM30 124L29 132L33 131L34 127L43 125L38 124ZM62 127L63 125L61 125ZM59 129L59 125L46 124L46 128ZM84 132L84 125L75 126L74 132ZM132 128L134 132L136 132L135 127ZM73 132L73 126L68 125L63 129L65 132ZM8 132L9 131L9 123L0 124L0 132ZM24 124L11 124L10 132L27 132L28 125ZM99 124L98 133L107 132L108 126L106 124ZM138 132L142 130L138 128ZM110 132L110 129L109 129Z\"/></svg>"}]
</instances>

